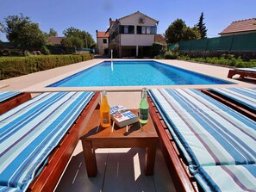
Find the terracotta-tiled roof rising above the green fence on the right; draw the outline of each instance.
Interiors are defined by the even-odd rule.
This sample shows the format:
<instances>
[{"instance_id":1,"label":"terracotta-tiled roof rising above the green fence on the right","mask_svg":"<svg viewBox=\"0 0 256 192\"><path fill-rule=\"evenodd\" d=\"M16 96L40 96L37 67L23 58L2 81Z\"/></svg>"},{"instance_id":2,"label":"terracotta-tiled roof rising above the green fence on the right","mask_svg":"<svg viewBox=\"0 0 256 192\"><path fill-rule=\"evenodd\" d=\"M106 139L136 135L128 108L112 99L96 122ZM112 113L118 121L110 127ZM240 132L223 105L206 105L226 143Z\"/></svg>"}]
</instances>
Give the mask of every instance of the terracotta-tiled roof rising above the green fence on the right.
<instances>
[{"instance_id":1,"label":"terracotta-tiled roof rising above the green fence on the right","mask_svg":"<svg viewBox=\"0 0 256 192\"><path fill-rule=\"evenodd\" d=\"M227 36L232 34L251 34L256 33L256 18L232 22L220 34Z\"/></svg>"}]
</instances>

